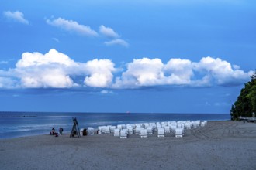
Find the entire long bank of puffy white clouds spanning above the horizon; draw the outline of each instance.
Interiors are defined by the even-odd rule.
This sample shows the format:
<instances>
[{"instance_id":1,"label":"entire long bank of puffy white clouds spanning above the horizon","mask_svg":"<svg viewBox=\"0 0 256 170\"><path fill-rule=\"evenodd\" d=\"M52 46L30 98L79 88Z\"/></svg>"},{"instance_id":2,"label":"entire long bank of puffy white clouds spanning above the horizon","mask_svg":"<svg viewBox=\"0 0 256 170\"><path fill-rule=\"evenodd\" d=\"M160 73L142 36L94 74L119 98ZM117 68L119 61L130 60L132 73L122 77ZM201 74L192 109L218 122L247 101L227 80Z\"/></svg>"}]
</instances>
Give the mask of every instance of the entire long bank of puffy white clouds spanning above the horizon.
<instances>
[{"instance_id":1,"label":"entire long bank of puffy white clouds spanning above the horizon","mask_svg":"<svg viewBox=\"0 0 256 170\"><path fill-rule=\"evenodd\" d=\"M118 73L118 70L123 70ZM69 56L50 49L46 54L23 53L16 67L0 70L0 88L140 88L154 86L235 86L250 79L239 66L210 56L199 62L172 58L133 59L125 68L115 68L110 59L78 63ZM120 75L120 76L116 76Z\"/></svg>"}]
</instances>

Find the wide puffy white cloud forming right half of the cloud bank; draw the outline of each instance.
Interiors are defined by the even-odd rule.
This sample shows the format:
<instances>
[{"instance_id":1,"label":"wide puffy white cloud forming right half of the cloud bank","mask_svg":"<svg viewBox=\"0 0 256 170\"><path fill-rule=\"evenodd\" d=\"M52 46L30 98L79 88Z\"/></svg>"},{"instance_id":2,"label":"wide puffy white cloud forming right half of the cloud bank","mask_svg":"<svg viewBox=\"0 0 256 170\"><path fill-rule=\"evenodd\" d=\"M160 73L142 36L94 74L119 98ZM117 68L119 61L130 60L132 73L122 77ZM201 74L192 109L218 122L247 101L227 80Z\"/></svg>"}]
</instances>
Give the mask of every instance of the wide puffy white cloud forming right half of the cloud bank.
<instances>
[{"instance_id":1,"label":"wide puffy white cloud forming right half of the cloud bank","mask_svg":"<svg viewBox=\"0 0 256 170\"><path fill-rule=\"evenodd\" d=\"M198 75L199 74L199 75ZM203 57L199 62L189 59L133 59L122 76L116 77L114 88L136 88L157 85L187 85L190 87L234 86L249 80L252 72L233 70L222 59Z\"/></svg>"}]
</instances>

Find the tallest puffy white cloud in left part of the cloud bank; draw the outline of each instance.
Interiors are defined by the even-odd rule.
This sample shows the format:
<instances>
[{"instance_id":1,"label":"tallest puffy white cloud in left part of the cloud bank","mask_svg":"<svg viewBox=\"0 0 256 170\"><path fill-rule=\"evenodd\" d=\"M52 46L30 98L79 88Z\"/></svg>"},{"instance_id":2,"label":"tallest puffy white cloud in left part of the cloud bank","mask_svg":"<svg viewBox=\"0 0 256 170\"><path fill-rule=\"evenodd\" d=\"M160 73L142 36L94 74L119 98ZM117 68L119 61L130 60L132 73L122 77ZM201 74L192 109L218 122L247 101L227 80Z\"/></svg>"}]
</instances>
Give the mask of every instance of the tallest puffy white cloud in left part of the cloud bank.
<instances>
[{"instance_id":1,"label":"tallest puffy white cloud in left part of the cloud bank","mask_svg":"<svg viewBox=\"0 0 256 170\"><path fill-rule=\"evenodd\" d=\"M16 63L15 73L20 79L21 87L67 88L76 84L71 79L71 70L78 70L68 56L50 49L49 53L23 53L22 59Z\"/></svg>"}]
</instances>

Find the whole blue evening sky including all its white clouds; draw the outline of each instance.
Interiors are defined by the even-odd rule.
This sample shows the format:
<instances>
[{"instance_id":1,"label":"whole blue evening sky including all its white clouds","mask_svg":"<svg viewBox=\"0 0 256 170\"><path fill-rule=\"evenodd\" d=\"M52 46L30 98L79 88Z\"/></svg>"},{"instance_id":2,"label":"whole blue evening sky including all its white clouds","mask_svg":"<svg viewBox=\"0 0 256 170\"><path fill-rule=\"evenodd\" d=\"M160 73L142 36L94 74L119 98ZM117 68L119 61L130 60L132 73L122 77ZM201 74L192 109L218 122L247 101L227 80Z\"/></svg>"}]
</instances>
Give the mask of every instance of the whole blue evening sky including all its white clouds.
<instances>
[{"instance_id":1,"label":"whole blue evening sky including all its white clouds","mask_svg":"<svg viewBox=\"0 0 256 170\"><path fill-rule=\"evenodd\" d=\"M253 0L2 0L0 111L229 114Z\"/></svg>"}]
</instances>

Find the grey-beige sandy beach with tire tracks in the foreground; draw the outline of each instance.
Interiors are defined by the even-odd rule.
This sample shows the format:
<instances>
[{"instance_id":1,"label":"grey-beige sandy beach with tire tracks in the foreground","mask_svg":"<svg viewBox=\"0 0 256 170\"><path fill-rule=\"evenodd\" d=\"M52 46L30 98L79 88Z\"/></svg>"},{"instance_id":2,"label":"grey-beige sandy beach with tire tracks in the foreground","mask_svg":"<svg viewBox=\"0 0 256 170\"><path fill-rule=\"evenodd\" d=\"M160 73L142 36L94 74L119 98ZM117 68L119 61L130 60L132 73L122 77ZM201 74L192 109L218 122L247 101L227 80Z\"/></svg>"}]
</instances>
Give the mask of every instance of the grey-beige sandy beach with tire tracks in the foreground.
<instances>
[{"instance_id":1,"label":"grey-beige sandy beach with tire tracks in the foreground","mask_svg":"<svg viewBox=\"0 0 256 170\"><path fill-rule=\"evenodd\" d=\"M256 124L213 121L183 138L113 134L0 140L0 169L255 169Z\"/></svg>"}]
</instances>

